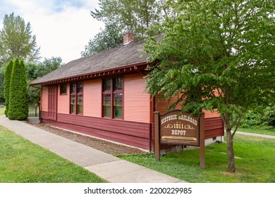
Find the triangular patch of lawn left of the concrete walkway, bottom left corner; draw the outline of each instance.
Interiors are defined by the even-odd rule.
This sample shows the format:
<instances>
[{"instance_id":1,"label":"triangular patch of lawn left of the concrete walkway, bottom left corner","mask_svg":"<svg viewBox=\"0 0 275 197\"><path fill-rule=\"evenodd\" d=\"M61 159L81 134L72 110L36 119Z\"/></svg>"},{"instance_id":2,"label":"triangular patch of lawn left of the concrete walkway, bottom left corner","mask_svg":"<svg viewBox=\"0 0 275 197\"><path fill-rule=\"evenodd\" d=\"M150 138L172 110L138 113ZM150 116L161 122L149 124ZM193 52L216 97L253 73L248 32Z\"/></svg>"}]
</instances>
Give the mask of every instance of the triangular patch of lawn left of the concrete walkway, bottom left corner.
<instances>
[{"instance_id":1,"label":"triangular patch of lawn left of the concrete walkway, bottom left corner","mask_svg":"<svg viewBox=\"0 0 275 197\"><path fill-rule=\"evenodd\" d=\"M0 182L106 182L0 126Z\"/></svg>"}]
</instances>

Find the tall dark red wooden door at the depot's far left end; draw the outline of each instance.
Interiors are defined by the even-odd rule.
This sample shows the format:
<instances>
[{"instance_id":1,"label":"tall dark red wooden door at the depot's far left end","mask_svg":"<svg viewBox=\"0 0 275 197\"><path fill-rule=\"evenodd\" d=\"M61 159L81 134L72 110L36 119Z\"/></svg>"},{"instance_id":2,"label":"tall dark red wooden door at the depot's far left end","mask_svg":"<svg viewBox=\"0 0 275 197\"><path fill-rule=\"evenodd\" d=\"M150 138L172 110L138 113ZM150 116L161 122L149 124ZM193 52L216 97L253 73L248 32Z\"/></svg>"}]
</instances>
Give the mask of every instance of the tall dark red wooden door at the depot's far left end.
<instances>
[{"instance_id":1,"label":"tall dark red wooden door at the depot's far left end","mask_svg":"<svg viewBox=\"0 0 275 197\"><path fill-rule=\"evenodd\" d=\"M56 120L57 109L57 86L49 87L49 113L48 117L51 120Z\"/></svg>"}]
</instances>

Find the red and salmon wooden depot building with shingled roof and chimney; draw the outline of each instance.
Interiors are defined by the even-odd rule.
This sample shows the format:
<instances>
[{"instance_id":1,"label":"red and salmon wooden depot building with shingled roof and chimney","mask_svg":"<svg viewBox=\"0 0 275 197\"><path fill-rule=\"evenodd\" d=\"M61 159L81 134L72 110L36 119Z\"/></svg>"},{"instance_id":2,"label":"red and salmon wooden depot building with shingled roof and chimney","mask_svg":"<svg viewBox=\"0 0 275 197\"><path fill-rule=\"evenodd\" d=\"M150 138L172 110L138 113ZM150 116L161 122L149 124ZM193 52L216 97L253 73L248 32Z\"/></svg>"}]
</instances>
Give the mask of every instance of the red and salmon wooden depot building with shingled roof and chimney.
<instances>
[{"instance_id":1,"label":"red and salmon wooden depot building with shingled roof and chimney","mask_svg":"<svg viewBox=\"0 0 275 197\"><path fill-rule=\"evenodd\" d=\"M144 41L124 35L124 44L71 61L32 82L41 87L41 121L102 139L154 150L153 112L169 103L145 92L148 54ZM221 140L218 113L205 113L205 139Z\"/></svg>"}]
</instances>

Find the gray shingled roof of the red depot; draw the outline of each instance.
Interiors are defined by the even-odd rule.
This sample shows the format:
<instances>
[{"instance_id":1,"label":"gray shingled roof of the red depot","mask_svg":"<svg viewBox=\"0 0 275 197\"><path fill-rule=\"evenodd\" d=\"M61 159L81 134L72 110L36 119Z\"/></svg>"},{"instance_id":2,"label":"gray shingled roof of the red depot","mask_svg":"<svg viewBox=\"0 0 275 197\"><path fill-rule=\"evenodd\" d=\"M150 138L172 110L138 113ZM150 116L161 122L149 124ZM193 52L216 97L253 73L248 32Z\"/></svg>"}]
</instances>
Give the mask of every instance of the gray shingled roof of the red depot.
<instances>
[{"instance_id":1,"label":"gray shingled roof of the red depot","mask_svg":"<svg viewBox=\"0 0 275 197\"><path fill-rule=\"evenodd\" d=\"M35 80L30 85L43 84L54 80L66 79L92 72L110 70L126 65L133 65L134 63L145 62L149 55L143 52L143 46L144 39L71 61L38 80Z\"/></svg>"}]
</instances>

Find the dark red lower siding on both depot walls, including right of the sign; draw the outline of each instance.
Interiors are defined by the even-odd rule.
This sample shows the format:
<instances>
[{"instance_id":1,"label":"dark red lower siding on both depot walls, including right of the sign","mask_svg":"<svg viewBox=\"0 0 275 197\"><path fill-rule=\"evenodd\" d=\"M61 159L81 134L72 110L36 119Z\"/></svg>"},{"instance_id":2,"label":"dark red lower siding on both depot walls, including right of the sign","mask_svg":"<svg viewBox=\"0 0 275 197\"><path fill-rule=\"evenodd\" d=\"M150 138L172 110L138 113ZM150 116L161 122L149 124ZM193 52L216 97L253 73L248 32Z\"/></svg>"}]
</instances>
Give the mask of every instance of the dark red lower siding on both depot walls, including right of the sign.
<instances>
[{"instance_id":1,"label":"dark red lower siding on both depot walls, including right of the sign","mask_svg":"<svg viewBox=\"0 0 275 197\"><path fill-rule=\"evenodd\" d=\"M56 127L71 129L146 150L152 150L154 147L154 124L67 114L58 114L57 121L52 121L47 120L47 116L48 113L42 111L42 122ZM204 129L205 139L224 136L224 122L221 117L205 118Z\"/></svg>"}]
</instances>

